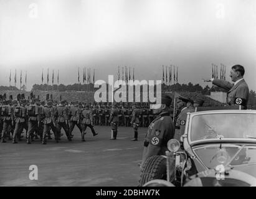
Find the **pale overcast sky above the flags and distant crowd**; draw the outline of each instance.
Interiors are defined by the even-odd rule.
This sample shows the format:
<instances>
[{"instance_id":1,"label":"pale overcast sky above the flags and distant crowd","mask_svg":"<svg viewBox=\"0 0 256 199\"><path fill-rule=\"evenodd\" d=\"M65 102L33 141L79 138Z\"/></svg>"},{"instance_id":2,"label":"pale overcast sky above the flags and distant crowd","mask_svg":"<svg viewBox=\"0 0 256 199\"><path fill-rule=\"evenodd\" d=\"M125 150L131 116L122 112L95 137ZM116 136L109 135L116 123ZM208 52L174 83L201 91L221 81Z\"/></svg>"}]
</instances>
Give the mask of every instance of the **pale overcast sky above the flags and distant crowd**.
<instances>
[{"instance_id":1,"label":"pale overcast sky above the flags and distant crowd","mask_svg":"<svg viewBox=\"0 0 256 199\"><path fill-rule=\"evenodd\" d=\"M42 68L45 80L47 68L50 77L59 70L67 85L78 67L95 68L96 80L118 65L135 67L138 80L161 80L161 66L173 64L179 83L206 86L211 63L227 65L227 80L243 65L256 90L255 0L0 0L0 85L9 85L10 69L12 85L14 70L18 80L27 70L31 89Z\"/></svg>"}]
</instances>

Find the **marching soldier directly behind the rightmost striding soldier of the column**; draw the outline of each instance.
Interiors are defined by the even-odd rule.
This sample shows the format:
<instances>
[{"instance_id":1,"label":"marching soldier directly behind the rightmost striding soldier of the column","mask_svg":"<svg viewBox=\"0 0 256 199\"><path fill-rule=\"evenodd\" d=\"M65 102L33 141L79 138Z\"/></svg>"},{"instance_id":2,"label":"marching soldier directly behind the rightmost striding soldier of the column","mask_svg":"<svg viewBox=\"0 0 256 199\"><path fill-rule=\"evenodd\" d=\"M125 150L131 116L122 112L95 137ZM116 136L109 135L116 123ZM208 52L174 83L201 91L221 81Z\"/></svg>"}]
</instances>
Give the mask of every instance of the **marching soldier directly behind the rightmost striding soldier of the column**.
<instances>
[{"instance_id":1,"label":"marching soldier directly behind the rightmost striding soldier of the column","mask_svg":"<svg viewBox=\"0 0 256 199\"><path fill-rule=\"evenodd\" d=\"M69 115L70 115L70 122L69 122L69 134L70 137L73 137L72 131L75 125L78 127L79 131L82 134L82 127L80 125L80 114L81 110L78 107L78 102L75 102L74 106L70 107Z\"/></svg>"}]
</instances>

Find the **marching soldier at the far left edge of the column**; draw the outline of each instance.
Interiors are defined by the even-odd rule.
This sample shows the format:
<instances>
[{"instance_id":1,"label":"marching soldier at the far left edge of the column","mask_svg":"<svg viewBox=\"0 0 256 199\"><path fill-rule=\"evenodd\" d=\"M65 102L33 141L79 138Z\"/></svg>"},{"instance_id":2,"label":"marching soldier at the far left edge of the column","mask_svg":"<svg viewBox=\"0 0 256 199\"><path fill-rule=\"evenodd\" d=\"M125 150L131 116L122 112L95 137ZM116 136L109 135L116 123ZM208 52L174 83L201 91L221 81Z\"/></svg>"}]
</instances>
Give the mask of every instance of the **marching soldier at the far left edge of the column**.
<instances>
[{"instance_id":1,"label":"marching soldier at the far left edge of the column","mask_svg":"<svg viewBox=\"0 0 256 199\"><path fill-rule=\"evenodd\" d=\"M1 118L2 118L2 133L1 133L1 142L5 143L5 137L7 131L14 125L14 115L13 109L11 107L11 101L6 101L7 103L2 103L1 107ZM15 103L15 102L12 102Z\"/></svg>"}]
</instances>

